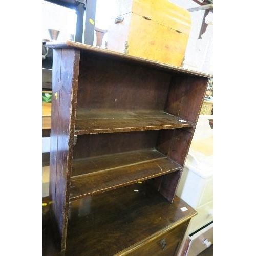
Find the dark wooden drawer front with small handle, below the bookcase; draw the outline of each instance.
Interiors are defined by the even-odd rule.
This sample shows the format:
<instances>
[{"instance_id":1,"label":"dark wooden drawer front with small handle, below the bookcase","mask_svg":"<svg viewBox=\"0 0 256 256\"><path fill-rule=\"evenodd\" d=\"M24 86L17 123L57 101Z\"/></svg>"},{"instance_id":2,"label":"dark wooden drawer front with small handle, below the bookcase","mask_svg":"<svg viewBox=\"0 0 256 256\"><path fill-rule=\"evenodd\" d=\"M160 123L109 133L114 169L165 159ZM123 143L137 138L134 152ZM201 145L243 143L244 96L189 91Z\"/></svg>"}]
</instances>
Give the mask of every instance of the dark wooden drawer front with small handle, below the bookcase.
<instances>
[{"instance_id":1,"label":"dark wooden drawer front with small handle, below the bookcase","mask_svg":"<svg viewBox=\"0 0 256 256\"><path fill-rule=\"evenodd\" d=\"M130 256L148 256L148 255L175 255L179 244L183 238L183 234L186 231L186 227L189 221L183 222L174 229L167 231L161 236L145 242L143 245L139 246L137 249L131 251L130 253L125 253L123 255Z\"/></svg>"}]
</instances>

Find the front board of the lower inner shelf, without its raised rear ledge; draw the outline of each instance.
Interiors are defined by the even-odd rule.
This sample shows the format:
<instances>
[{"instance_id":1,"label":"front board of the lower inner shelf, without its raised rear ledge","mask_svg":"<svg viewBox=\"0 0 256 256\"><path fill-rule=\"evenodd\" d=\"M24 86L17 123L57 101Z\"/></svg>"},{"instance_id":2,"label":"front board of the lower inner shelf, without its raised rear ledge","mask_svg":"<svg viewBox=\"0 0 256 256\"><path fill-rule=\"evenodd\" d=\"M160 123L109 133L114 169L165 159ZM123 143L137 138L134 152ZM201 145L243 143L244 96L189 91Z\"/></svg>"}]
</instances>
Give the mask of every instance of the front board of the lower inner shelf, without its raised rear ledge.
<instances>
[{"instance_id":1,"label":"front board of the lower inner shelf, without its raised rear ledge","mask_svg":"<svg viewBox=\"0 0 256 256\"><path fill-rule=\"evenodd\" d=\"M182 166L172 159L162 157L73 176L71 177L70 201L177 172L181 168Z\"/></svg>"}]
</instances>

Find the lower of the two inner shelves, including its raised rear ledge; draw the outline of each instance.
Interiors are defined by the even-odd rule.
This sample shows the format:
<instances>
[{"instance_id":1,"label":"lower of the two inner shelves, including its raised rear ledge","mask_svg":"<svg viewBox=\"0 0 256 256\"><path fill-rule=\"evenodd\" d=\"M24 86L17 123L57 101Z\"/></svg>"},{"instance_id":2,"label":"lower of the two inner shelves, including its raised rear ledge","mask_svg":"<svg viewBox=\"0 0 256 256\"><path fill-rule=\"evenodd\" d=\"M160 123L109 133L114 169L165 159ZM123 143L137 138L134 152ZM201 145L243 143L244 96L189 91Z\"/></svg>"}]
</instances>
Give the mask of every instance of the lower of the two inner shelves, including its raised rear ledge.
<instances>
[{"instance_id":1,"label":"lower of the two inner shelves, including its raised rear ledge","mask_svg":"<svg viewBox=\"0 0 256 256\"><path fill-rule=\"evenodd\" d=\"M181 168L155 148L76 159L72 163L70 201Z\"/></svg>"}]
</instances>

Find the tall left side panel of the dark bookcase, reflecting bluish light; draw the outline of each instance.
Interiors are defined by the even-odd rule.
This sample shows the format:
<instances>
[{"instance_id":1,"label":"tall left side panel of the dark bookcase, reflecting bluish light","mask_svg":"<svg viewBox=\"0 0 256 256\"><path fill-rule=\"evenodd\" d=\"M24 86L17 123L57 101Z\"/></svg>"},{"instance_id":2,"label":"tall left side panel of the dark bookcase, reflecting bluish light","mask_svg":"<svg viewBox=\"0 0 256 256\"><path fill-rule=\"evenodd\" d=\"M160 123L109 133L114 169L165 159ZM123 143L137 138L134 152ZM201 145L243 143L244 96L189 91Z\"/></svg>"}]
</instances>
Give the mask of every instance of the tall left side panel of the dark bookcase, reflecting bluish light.
<instances>
[{"instance_id":1,"label":"tall left side panel of the dark bookcase, reflecting bluish light","mask_svg":"<svg viewBox=\"0 0 256 256\"><path fill-rule=\"evenodd\" d=\"M50 198L61 250L66 246L71 159L75 129L78 50L54 50L51 120Z\"/></svg>"}]
</instances>

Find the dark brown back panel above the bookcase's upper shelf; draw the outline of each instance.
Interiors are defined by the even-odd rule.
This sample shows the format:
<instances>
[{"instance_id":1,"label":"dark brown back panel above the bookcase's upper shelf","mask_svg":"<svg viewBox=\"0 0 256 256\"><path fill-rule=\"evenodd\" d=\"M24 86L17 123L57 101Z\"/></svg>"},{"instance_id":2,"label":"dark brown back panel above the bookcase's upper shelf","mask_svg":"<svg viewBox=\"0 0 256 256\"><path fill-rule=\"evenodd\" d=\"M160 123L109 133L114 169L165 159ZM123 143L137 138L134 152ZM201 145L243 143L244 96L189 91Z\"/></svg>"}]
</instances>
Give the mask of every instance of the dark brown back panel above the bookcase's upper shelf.
<instances>
[{"instance_id":1,"label":"dark brown back panel above the bookcase's upper shelf","mask_svg":"<svg viewBox=\"0 0 256 256\"><path fill-rule=\"evenodd\" d=\"M85 110L162 111L170 74L82 53L77 107Z\"/></svg>"}]
</instances>

